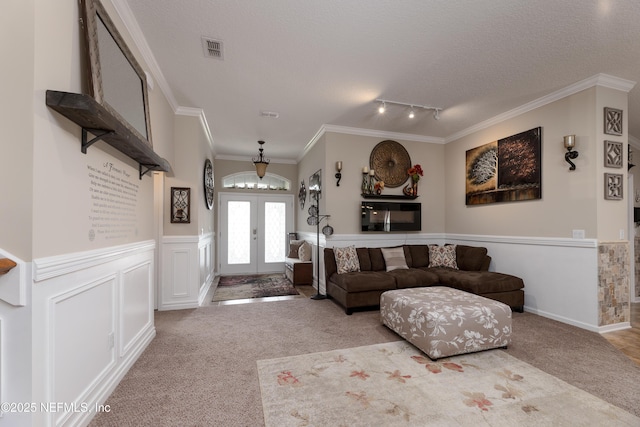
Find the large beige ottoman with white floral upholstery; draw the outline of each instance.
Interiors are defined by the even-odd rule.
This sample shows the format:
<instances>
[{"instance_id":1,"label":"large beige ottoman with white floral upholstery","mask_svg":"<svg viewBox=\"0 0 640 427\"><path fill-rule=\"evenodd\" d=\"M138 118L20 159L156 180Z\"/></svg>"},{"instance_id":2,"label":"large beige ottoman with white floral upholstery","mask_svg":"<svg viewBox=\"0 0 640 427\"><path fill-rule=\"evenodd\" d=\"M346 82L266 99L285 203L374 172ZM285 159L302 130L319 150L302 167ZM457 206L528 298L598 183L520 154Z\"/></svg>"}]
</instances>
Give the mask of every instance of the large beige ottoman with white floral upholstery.
<instances>
[{"instance_id":1,"label":"large beige ottoman with white floral upholstery","mask_svg":"<svg viewBox=\"0 0 640 427\"><path fill-rule=\"evenodd\" d=\"M432 359L511 342L508 305L445 286L384 292L380 315L384 325Z\"/></svg>"}]
</instances>

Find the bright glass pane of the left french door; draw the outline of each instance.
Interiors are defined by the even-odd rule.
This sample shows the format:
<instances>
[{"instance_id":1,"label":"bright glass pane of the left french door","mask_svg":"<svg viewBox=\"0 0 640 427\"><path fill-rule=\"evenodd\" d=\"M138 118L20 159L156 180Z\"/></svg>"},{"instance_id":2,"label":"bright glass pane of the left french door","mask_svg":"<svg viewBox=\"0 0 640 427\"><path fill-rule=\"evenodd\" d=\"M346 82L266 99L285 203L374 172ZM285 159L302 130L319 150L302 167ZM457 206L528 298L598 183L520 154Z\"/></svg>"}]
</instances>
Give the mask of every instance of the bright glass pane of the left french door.
<instances>
[{"instance_id":1,"label":"bright glass pane of the left french door","mask_svg":"<svg viewBox=\"0 0 640 427\"><path fill-rule=\"evenodd\" d=\"M227 263L251 262L251 202L229 201Z\"/></svg>"}]
</instances>

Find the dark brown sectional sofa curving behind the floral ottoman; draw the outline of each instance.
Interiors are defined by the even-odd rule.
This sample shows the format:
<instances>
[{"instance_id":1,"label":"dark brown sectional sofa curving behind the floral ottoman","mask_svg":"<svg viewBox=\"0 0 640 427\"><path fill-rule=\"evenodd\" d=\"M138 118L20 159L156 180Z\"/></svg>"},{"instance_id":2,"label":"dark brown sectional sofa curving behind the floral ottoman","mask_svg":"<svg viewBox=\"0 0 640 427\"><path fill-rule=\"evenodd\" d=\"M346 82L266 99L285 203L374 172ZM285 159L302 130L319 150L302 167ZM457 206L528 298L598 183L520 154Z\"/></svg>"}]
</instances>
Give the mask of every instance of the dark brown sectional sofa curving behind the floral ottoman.
<instances>
[{"instance_id":1,"label":"dark brown sectional sofa curving behind the floral ottoman","mask_svg":"<svg viewBox=\"0 0 640 427\"><path fill-rule=\"evenodd\" d=\"M524 282L508 274L491 272L491 257L483 247L457 245L458 269L429 267L428 245L403 245L408 269L386 271L381 248L356 248L360 271L338 274L334 250L324 249L327 296L347 314L354 309L375 308L380 295L392 289L443 285L508 304L515 311L524 306Z\"/></svg>"}]
</instances>

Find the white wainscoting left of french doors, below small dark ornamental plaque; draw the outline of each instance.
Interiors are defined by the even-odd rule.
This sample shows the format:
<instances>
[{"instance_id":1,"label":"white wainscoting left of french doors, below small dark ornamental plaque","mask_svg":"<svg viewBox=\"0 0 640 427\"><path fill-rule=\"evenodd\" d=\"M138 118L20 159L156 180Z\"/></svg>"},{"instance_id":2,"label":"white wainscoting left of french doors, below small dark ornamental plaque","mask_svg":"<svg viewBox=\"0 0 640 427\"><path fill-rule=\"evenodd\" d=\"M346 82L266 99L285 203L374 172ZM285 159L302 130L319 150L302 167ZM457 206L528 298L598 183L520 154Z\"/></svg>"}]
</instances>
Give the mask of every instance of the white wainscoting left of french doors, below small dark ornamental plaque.
<instances>
[{"instance_id":1,"label":"white wainscoting left of french doors, below small dark ornamental plaque","mask_svg":"<svg viewBox=\"0 0 640 427\"><path fill-rule=\"evenodd\" d=\"M199 307L213 282L213 234L165 236L158 310Z\"/></svg>"}]
</instances>

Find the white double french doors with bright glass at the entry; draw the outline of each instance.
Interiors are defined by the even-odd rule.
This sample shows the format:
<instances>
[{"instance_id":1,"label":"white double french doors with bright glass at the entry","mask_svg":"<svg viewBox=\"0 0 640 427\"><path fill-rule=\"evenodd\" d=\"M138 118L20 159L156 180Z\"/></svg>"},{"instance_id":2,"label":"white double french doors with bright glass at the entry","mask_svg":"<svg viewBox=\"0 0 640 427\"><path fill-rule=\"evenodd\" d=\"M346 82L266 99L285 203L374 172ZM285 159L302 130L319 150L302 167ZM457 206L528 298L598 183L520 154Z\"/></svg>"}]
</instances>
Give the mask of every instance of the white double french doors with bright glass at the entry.
<instances>
[{"instance_id":1,"label":"white double french doors with bright glass at the entry","mask_svg":"<svg viewBox=\"0 0 640 427\"><path fill-rule=\"evenodd\" d=\"M220 274L284 271L292 195L219 194Z\"/></svg>"}]
</instances>

